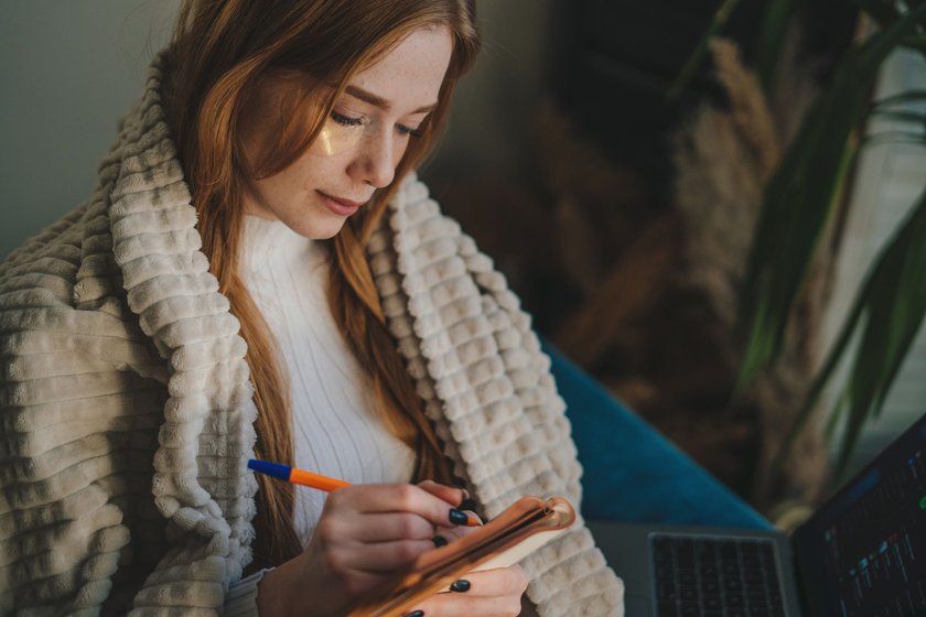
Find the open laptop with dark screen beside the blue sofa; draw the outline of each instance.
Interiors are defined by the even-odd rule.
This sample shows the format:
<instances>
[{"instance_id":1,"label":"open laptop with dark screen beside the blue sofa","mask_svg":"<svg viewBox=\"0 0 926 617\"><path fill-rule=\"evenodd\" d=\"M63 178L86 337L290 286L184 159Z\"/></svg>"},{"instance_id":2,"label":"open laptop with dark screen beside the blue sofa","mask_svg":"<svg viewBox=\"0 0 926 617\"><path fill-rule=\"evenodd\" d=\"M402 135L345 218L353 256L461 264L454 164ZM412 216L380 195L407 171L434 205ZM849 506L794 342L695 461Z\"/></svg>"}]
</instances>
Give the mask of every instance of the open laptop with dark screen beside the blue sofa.
<instances>
[{"instance_id":1,"label":"open laptop with dark screen beside the blue sofa","mask_svg":"<svg viewBox=\"0 0 926 617\"><path fill-rule=\"evenodd\" d=\"M926 617L926 415L790 535L588 524L626 617Z\"/></svg>"}]
</instances>

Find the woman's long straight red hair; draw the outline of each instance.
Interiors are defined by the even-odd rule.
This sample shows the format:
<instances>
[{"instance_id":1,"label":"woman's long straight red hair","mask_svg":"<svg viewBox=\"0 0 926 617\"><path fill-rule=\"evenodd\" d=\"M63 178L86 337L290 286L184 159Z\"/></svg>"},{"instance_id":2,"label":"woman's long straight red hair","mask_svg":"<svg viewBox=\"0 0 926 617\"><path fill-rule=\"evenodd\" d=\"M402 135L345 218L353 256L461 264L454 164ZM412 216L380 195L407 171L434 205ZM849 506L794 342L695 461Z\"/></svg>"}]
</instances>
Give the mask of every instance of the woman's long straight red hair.
<instances>
[{"instance_id":1,"label":"woman's long straight red hair","mask_svg":"<svg viewBox=\"0 0 926 617\"><path fill-rule=\"evenodd\" d=\"M387 331L366 245L398 182L421 162L442 129L452 89L480 47L474 19L472 0L187 0L181 8L165 99L203 251L248 344L258 409L257 456L292 461L293 441L287 372L238 271L244 186L251 177L283 170L305 151L354 74L410 32L443 26L453 52L438 107L421 126L422 137L409 144L396 181L332 241L329 299L348 347L369 376L377 411L417 454L414 479L451 480L450 464ZM281 134L274 136L278 148L261 161L246 162L237 131L241 111L260 78L274 69L306 76L301 96L288 102L301 110L292 117L304 121L281 127ZM319 83L335 87L321 106L304 106ZM302 550L293 530L292 487L259 481L252 567L278 565Z\"/></svg>"}]
</instances>

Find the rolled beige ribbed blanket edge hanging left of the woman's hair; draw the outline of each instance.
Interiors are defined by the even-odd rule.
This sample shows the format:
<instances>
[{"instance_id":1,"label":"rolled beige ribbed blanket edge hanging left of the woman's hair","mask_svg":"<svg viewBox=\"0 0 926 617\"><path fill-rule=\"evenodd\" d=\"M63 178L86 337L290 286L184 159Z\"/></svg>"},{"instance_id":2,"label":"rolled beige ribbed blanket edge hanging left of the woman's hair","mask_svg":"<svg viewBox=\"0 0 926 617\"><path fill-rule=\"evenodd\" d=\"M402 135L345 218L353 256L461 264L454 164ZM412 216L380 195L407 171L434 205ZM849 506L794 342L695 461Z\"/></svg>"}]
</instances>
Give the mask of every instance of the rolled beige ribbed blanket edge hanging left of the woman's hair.
<instances>
[{"instance_id":1,"label":"rolled beige ribbed blanket edge hanging left of the woman's hair","mask_svg":"<svg viewBox=\"0 0 926 617\"><path fill-rule=\"evenodd\" d=\"M246 464L256 409L239 324L200 250L196 214L164 121L162 62L152 65L144 95L122 120L100 180L128 305L170 366L155 502L179 531L202 537L194 559L225 564L227 583L250 562L257 483ZM169 553L162 567L172 560L190 555Z\"/></svg>"}]
</instances>

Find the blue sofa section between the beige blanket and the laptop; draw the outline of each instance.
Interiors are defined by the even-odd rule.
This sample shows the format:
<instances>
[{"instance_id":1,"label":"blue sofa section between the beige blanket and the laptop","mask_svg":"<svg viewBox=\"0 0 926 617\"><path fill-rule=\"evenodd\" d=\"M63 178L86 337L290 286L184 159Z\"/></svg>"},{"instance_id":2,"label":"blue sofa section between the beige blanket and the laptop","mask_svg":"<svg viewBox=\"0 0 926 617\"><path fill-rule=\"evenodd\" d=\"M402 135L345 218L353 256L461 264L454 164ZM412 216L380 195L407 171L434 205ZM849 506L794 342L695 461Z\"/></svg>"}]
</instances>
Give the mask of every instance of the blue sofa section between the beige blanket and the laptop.
<instances>
[{"instance_id":1,"label":"blue sofa section between the beige blanket and the laptop","mask_svg":"<svg viewBox=\"0 0 926 617\"><path fill-rule=\"evenodd\" d=\"M579 448L586 519L767 529L769 522L545 343Z\"/></svg>"}]
</instances>

